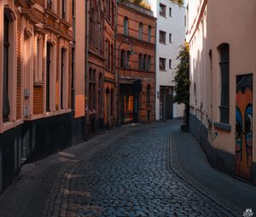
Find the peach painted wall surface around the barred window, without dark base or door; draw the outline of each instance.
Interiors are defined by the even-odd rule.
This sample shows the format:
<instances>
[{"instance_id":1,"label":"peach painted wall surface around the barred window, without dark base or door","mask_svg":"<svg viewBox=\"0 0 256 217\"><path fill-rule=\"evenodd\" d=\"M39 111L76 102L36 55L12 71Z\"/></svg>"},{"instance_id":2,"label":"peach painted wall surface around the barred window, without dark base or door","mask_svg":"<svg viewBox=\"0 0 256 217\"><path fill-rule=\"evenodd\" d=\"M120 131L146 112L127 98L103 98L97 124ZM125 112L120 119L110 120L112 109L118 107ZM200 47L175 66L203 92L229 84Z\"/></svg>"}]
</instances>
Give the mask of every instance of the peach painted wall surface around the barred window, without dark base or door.
<instances>
[{"instance_id":1,"label":"peach painted wall surface around the barred window, without dark base or door","mask_svg":"<svg viewBox=\"0 0 256 217\"><path fill-rule=\"evenodd\" d=\"M211 145L233 156L236 153L236 76L252 73L253 89L256 85L256 30L251 27L256 19L255 9L256 2L250 0L242 4L239 0L189 1L190 112L208 128ZM221 43L230 44L230 131L214 127L220 121L218 46ZM253 114L255 102L253 94ZM255 124L253 118L253 162L256 162Z\"/></svg>"}]
</instances>

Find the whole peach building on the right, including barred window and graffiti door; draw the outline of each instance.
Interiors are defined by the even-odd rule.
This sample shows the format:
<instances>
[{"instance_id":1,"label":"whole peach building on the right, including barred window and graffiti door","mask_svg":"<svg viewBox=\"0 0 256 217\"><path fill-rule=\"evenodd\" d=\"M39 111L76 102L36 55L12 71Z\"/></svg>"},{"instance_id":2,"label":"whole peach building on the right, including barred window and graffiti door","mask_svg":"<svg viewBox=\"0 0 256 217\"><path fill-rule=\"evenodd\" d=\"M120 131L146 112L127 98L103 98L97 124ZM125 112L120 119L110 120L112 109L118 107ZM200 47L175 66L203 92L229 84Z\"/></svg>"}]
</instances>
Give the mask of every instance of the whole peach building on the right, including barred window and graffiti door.
<instances>
[{"instance_id":1,"label":"whole peach building on the right, including barred window and graffiti door","mask_svg":"<svg viewBox=\"0 0 256 217\"><path fill-rule=\"evenodd\" d=\"M214 167L255 184L254 9L249 0L189 1L187 40L190 130Z\"/></svg>"}]
</instances>

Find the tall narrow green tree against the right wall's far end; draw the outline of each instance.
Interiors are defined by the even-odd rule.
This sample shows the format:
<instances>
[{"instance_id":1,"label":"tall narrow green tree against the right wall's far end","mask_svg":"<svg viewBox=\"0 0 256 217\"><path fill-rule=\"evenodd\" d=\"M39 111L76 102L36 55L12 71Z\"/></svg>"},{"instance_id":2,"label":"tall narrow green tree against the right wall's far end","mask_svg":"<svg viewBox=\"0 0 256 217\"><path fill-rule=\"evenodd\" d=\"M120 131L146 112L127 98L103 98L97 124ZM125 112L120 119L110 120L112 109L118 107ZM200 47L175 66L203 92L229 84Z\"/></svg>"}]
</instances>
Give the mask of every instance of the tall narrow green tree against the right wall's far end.
<instances>
[{"instance_id":1,"label":"tall narrow green tree against the right wall's far end","mask_svg":"<svg viewBox=\"0 0 256 217\"><path fill-rule=\"evenodd\" d=\"M174 77L174 101L178 104L185 105L185 128L189 128L189 43L185 42L177 55L179 64L176 68L176 75Z\"/></svg>"}]
</instances>

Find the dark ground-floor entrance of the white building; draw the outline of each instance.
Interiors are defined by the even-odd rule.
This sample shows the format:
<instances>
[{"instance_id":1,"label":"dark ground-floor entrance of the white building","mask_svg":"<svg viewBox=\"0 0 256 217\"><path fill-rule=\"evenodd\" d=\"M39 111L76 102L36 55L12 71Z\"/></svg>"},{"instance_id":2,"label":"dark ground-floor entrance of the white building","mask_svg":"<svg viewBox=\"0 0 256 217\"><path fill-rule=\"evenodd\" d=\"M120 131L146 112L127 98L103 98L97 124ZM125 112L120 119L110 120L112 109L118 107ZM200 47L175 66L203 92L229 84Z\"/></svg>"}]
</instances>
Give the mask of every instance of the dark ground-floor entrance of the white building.
<instances>
[{"instance_id":1,"label":"dark ground-floor entrance of the white building","mask_svg":"<svg viewBox=\"0 0 256 217\"><path fill-rule=\"evenodd\" d=\"M160 120L173 118L173 87L160 86Z\"/></svg>"}]
</instances>

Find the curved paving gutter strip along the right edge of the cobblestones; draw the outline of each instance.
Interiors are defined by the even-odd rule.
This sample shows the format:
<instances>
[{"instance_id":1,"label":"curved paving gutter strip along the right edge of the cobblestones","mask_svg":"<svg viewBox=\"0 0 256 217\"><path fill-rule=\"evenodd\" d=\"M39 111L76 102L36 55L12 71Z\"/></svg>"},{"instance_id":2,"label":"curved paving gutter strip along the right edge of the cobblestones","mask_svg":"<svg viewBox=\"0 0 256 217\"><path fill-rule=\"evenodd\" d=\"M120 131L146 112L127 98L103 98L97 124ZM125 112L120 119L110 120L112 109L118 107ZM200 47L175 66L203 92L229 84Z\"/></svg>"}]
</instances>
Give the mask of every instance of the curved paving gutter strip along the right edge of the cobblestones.
<instances>
[{"instance_id":1,"label":"curved paving gutter strip along the right edge of the cobblestones","mask_svg":"<svg viewBox=\"0 0 256 217\"><path fill-rule=\"evenodd\" d=\"M172 140L172 134L166 138L166 144L166 159L169 161L169 170L176 174L177 178L182 180L185 186L188 186L193 191L197 191L199 194L201 194L201 197L205 198L205 200L212 204L213 207L218 206L225 216L241 216L243 211L240 208L236 208L232 203L225 200L223 197L219 197L214 191L211 191L206 186L201 185L201 183L183 171L183 168L181 168L178 163L177 150ZM224 206L222 204L224 204Z\"/></svg>"}]
</instances>

